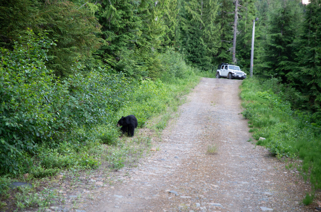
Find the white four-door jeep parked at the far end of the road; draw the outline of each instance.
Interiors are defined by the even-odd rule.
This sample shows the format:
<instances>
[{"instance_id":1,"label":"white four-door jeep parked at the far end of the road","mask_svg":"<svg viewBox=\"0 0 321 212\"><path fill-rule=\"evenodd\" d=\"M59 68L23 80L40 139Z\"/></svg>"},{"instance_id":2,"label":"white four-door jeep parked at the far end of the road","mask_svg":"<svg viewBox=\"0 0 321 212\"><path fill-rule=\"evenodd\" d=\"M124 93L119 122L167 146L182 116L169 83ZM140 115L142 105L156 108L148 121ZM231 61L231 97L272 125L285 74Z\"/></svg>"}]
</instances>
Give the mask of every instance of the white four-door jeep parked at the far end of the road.
<instances>
[{"instance_id":1,"label":"white four-door jeep parked at the far end of the road","mask_svg":"<svg viewBox=\"0 0 321 212\"><path fill-rule=\"evenodd\" d=\"M216 70L216 78L229 78L229 79L245 79L246 74L240 69L239 66L234 66L228 63L221 63Z\"/></svg>"}]
</instances>

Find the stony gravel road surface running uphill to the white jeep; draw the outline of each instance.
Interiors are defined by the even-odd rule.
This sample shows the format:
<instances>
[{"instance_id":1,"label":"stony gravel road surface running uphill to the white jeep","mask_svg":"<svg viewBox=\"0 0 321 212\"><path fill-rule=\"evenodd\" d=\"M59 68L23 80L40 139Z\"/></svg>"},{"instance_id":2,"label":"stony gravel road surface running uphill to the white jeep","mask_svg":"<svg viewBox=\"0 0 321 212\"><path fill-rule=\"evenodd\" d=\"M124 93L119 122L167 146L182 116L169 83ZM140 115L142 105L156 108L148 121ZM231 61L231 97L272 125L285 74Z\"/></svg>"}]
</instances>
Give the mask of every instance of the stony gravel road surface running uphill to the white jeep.
<instances>
[{"instance_id":1,"label":"stony gravel road surface running uphill to the white jeep","mask_svg":"<svg viewBox=\"0 0 321 212\"><path fill-rule=\"evenodd\" d=\"M300 203L310 190L302 177L248 142L241 82L202 78L162 132L159 151L120 170L121 181L78 211L311 211Z\"/></svg>"}]
</instances>

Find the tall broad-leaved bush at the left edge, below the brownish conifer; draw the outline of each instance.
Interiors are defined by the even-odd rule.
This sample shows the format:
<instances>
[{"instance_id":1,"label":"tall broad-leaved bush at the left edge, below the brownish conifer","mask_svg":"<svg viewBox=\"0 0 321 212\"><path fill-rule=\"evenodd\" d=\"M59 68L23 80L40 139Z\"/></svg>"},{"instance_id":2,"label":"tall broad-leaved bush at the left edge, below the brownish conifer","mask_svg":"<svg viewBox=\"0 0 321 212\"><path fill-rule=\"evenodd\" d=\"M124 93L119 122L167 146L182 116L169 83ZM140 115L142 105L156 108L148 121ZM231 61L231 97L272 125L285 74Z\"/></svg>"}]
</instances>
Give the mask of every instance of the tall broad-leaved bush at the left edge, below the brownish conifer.
<instances>
[{"instance_id":1,"label":"tall broad-leaved bush at the left edge, below the brownish conifer","mask_svg":"<svg viewBox=\"0 0 321 212\"><path fill-rule=\"evenodd\" d=\"M15 42L13 51L0 48L1 173L17 173L22 151L34 154L40 134L51 137L48 123L56 121L45 112L52 110L48 93L55 87L44 63L52 43L45 37L33 38L31 32L30 37L26 45Z\"/></svg>"}]
</instances>

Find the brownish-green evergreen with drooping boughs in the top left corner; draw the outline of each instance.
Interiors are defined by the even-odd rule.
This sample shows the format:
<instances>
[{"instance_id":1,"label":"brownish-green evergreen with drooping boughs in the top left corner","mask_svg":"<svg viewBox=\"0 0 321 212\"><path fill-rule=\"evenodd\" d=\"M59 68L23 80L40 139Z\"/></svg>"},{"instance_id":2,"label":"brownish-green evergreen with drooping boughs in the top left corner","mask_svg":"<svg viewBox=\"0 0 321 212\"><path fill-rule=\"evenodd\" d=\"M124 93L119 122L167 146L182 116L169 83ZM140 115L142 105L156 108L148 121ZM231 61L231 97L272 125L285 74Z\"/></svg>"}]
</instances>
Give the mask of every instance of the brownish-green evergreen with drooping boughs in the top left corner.
<instances>
[{"instance_id":1,"label":"brownish-green evergreen with drooping boughs in the top left corner","mask_svg":"<svg viewBox=\"0 0 321 212\"><path fill-rule=\"evenodd\" d=\"M73 73L74 61L90 64L100 47L100 24L92 11L70 1L0 0L0 42L10 48L24 31L45 34L56 42L48 49L47 67L56 75Z\"/></svg>"}]
</instances>

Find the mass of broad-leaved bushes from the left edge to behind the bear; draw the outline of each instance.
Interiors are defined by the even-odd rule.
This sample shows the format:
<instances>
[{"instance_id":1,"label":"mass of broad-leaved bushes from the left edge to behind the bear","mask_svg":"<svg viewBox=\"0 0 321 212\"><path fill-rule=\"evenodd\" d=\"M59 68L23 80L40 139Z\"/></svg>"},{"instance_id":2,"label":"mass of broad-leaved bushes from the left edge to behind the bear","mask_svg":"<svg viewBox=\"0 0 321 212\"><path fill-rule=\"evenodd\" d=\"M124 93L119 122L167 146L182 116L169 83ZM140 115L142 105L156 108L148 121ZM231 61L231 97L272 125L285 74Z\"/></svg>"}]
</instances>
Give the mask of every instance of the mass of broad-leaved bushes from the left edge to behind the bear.
<instances>
[{"instance_id":1,"label":"mass of broad-leaved bushes from the left edge to behind the bear","mask_svg":"<svg viewBox=\"0 0 321 212\"><path fill-rule=\"evenodd\" d=\"M88 140L86 131L125 105L130 89L129 79L106 68L59 80L45 66L54 43L26 33L13 51L0 49L0 174L27 170L24 158L36 155L39 144ZM75 72L81 68L75 63ZM87 130L79 134L77 128Z\"/></svg>"}]
</instances>

